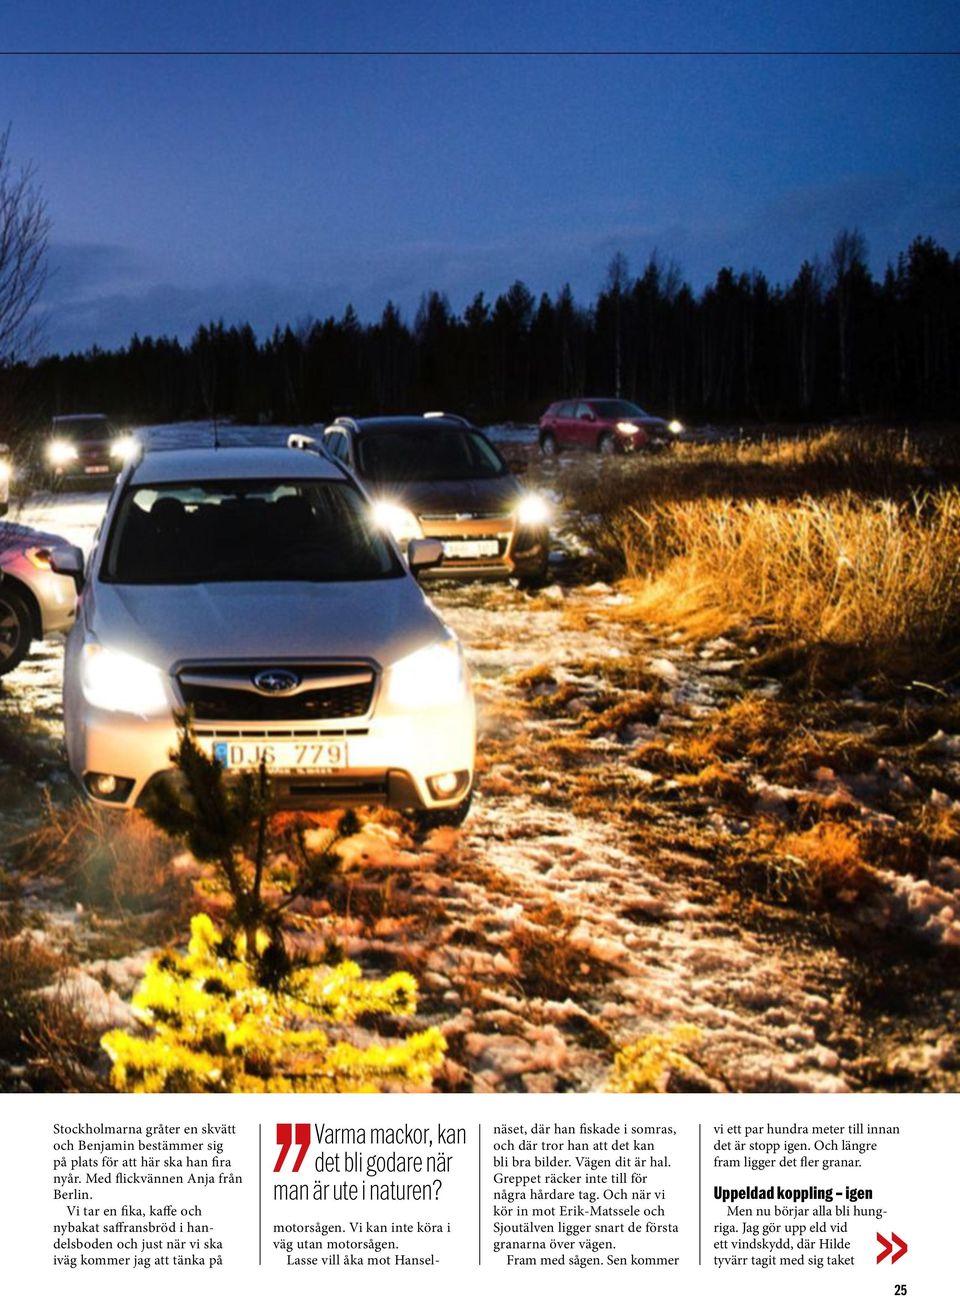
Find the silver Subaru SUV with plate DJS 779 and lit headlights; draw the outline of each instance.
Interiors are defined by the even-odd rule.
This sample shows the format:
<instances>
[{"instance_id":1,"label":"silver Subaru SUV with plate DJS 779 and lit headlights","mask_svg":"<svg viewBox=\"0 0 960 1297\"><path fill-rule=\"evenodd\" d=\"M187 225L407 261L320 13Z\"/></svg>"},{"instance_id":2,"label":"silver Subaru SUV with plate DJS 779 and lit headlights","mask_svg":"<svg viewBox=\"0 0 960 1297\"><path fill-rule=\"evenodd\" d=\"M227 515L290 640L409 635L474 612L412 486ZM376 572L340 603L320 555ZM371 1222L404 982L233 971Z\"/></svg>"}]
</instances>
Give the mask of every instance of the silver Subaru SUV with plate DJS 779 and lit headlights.
<instances>
[{"instance_id":1,"label":"silver Subaru SUV with plate DJS 779 and lit headlights","mask_svg":"<svg viewBox=\"0 0 960 1297\"><path fill-rule=\"evenodd\" d=\"M405 562L406 559L406 562ZM226 770L266 761L279 805L383 804L458 822L474 783L463 651L344 466L302 450L141 451L86 564L66 646L70 768L132 807L170 777L175 716Z\"/></svg>"}]
</instances>

